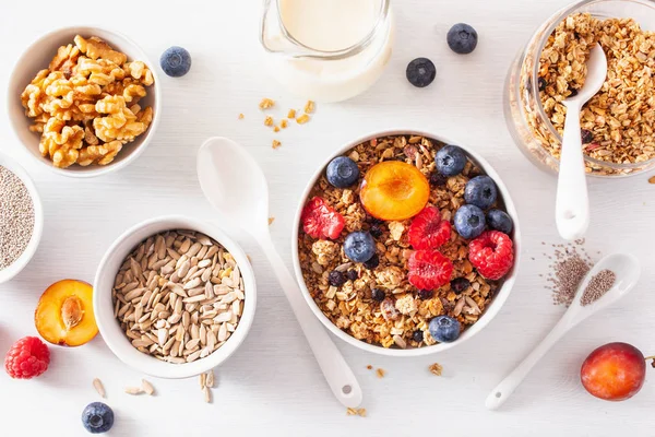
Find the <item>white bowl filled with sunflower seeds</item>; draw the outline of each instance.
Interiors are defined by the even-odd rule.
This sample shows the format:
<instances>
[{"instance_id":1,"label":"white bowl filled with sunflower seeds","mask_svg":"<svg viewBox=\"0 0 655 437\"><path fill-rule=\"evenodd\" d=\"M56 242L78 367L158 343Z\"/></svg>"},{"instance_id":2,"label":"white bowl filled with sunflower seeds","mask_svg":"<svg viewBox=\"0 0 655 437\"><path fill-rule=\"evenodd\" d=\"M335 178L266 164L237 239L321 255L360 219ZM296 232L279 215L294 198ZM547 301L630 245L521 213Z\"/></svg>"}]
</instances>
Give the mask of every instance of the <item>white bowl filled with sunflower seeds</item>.
<instances>
[{"instance_id":1,"label":"white bowl filled with sunflower seeds","mask_svg":"<svg viewBox=\"0 0 655 437\"><path fill-rule=\"evenodd\" d=\"M216 226L184 216L126 231L94 281L93 307L107 346L159 378L188 378L225 362L246 339L255 305L254 274L240 246Z\"/></svg>"}]
</instances>

